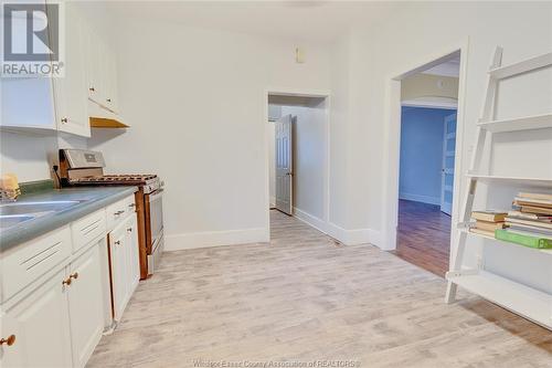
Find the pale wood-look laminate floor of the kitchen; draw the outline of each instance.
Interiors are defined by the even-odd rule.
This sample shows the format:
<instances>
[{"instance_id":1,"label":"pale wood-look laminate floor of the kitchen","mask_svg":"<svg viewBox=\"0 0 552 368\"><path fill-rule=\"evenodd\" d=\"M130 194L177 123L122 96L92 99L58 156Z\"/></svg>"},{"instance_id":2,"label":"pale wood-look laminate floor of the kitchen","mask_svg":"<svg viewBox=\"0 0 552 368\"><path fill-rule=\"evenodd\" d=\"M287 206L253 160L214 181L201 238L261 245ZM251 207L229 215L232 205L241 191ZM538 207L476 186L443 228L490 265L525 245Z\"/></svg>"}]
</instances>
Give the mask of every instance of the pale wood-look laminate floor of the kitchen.
<instances>
[{"instance_id":1,"label":"pale wood-look laminate floor of the kitchen","mask_svg":"<svg viewBox=\"0 0 552 368\"><path fill-rule=\"evenodd\" d=\"M270 218L269 244L166 253L88 366L552 366L549 330L461 291L446 305L445 281L429 272Z\"/></svg>"}]
</instances>

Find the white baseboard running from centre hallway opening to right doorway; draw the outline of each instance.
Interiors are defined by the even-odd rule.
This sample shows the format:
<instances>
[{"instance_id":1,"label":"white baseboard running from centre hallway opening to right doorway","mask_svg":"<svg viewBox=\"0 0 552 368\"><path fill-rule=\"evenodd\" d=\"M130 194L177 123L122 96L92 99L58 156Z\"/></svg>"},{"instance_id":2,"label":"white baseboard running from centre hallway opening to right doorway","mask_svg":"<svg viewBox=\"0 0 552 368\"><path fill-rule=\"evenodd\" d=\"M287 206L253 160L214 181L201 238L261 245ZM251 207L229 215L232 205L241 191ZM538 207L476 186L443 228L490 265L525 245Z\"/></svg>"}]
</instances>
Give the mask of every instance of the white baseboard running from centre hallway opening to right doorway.
<instances>
[{"instance_id":1,"label":"white baseboard running from centre hallway opening to right doorway","mask_svg":"<svg viewBox=\"0 0 552 368\"><path fill-rule=\"evenodd\" d=\"M294 214L297 219L311 225L312 228L323 232L339 240L346 245L357 245L357 244L373 244L375 246L382 245L381 233L372 229L353 229L347 230L338 227L335 223L327 222L316 215L307 213L298 208L294 208Z\"/></svg>"}]
</instances>

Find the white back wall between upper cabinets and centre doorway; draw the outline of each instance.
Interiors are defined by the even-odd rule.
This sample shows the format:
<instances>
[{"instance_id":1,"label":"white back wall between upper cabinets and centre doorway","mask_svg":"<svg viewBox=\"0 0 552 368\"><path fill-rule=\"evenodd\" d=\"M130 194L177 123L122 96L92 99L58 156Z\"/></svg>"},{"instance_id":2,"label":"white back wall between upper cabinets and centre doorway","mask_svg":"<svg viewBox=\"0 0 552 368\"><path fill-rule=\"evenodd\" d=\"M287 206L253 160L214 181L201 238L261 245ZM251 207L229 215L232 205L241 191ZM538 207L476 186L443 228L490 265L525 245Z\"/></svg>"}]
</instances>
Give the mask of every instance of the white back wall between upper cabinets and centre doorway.
<instances>
[{"instance_id":1,"label":"white back wall between upper cabinets and centre doorway","mask_svg":"<svg viewBox=\"0 0 552 368\"><path fill-rule=\"evenodd\" d=\"M265 91L329 90L329 50L182 24L119 20L126 134L96 134L113 171L166 181L168 249L268 240Z\"/></svg>"}]
</instances>

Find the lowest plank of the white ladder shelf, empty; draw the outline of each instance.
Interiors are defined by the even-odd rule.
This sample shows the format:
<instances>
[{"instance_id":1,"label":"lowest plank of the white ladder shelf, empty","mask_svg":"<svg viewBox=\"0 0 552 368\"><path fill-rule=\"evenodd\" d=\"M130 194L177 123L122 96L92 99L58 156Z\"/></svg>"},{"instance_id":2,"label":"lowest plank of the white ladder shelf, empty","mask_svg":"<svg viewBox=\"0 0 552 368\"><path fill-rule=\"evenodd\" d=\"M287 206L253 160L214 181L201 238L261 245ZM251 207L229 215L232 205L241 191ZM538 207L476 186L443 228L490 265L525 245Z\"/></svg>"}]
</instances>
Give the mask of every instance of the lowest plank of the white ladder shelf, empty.
<instances>
[{"instance_id":1,"label":"lowest plank of the white ladder shelf, empty","mask_svg":"<svg viewBox=\"0 0 552 368\"><path fill-rule=\"evenodd\" d=\"M447 278L468 292L552 329L552 295L548 293L486 271Z\"/></svg>"}]
</instances>

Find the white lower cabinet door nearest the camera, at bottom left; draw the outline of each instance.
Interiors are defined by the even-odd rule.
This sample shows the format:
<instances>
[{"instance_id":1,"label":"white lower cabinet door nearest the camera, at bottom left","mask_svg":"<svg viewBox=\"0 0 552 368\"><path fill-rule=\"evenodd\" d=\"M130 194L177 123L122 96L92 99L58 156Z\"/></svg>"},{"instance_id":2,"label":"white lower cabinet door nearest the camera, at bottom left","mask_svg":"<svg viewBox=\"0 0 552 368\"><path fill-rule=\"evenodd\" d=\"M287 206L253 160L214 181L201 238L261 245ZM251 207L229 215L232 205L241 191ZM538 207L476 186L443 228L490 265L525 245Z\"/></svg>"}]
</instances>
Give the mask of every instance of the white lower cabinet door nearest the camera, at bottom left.
<instances>
[{"instance_id":1,"label":"white lower cabinet door nearest the camera, at bottom left","mask_svg":"<svg viewBox=\"0 0 552 368\"><path fill-rule=\"evenodd\" d=\"M2 336L15 335L0 347L2 368L72 366L65 278L60 271L2 316Z\"/></svg>"}]
</instances>

